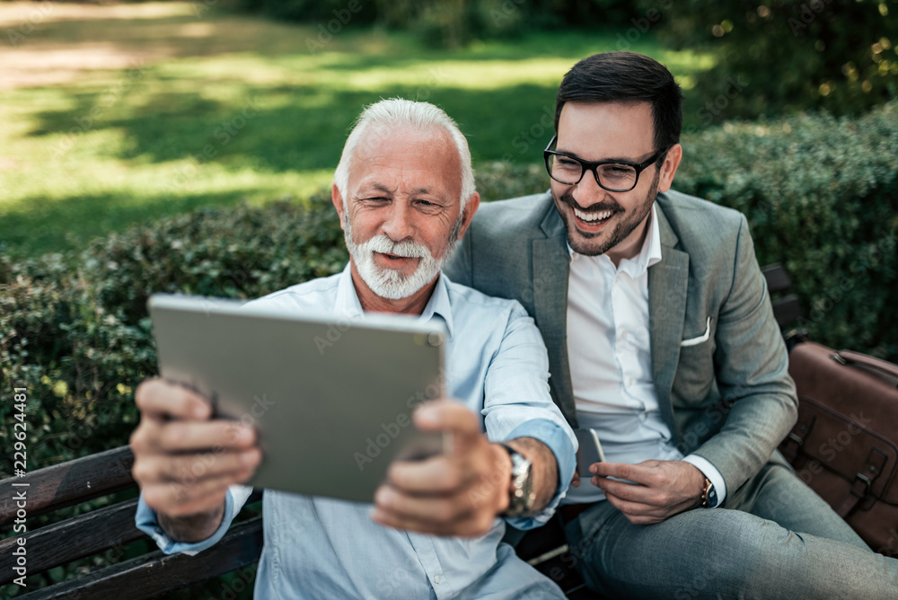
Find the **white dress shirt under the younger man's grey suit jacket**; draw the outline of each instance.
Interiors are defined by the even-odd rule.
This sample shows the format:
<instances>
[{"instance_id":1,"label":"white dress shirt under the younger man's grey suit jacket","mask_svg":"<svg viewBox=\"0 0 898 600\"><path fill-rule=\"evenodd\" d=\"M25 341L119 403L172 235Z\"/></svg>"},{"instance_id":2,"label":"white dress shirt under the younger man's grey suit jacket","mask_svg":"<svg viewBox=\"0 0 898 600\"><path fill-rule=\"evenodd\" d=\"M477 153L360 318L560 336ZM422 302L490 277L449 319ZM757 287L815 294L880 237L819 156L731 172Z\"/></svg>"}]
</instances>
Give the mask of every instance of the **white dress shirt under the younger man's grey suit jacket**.
<instances>
[{"instance_id":1,"label":"white dress shirt under the younger man's grey suit jacket","mask_svg":"<svg viewBox=\"0 0 898 600\"><path fill-rule=\"evenodd\" d=\"M683 457L658 406L648 319L648 268L661 261L656 223L653 204L641 250L618 267L606 254L585 256L568 246L568 357L577 420L598 434L609 463L695 465L714 484L719 506L726 497L720 472L700 456ZM602 490L581 479L565 503L603 499Z\"/></svg>"}]
</instances>

